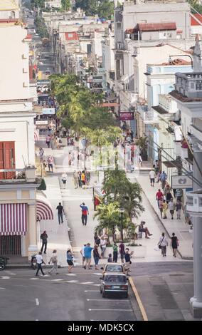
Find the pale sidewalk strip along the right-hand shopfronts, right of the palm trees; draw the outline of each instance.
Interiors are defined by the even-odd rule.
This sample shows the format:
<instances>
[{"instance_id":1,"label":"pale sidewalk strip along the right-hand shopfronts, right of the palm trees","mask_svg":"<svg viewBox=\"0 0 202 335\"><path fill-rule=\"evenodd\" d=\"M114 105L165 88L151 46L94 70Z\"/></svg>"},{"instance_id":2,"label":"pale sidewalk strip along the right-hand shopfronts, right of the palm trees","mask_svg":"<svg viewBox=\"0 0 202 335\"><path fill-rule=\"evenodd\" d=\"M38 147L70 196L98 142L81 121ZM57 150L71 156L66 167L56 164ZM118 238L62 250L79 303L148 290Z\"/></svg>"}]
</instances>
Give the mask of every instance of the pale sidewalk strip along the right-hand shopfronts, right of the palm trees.
<instances>
[{"instance_id":1,"label":"pale sidewalk strip along the right-hand shopfronts, right of the palm trees","mask_svg":"<svg viewBox=\"0 0 202 335\"><path fill-rule=\"evenodd\" d=\"M179 238L178 250L181 257L183 259L193 259L193 237L192 234L189 232L189 225L185 224L184 215L182 214L181 220L176 220L175 212L174 220L171 220L170 213L168 211L168 218L161 219L159 207L156 202L156 192L159 188L161 189L160 184L156 182L154 187L151 187L149 182L149 174L140 173L135 177L137 179L137 182L139 182L139 184L141 185L144 195L149 200L151 207L154 209L154 212L156 212L156 215L159 217L161 225L164 227L164 230L166 230L166 232L169 234L169 237L171 237L171 234L175 232L176 236Z\"/></svg>"}]
</instances>

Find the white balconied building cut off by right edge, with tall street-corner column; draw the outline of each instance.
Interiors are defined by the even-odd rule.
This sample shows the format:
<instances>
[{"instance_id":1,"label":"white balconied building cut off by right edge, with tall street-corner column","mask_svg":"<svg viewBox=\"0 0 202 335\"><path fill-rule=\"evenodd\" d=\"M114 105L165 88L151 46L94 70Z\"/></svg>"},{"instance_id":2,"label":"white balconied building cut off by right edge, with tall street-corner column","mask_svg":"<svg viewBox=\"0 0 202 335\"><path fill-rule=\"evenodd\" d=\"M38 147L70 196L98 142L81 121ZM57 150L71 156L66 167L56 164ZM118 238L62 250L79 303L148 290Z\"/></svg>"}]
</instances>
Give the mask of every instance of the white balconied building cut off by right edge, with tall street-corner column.
<instances>
[{"instance_id":1,"label":"white balconied building cut off by right edge, with tall street-corner column","mask_svg":"<svg viewBox=\"0 0 202 335\"><path fill-rule=\"evenodd\" d=\"M187 172L193 170L193 192L187 192L186 208L193 221L194 296L190 299L193 316L202 316L202 41L193 50L193 73L176 73L175 90L171 97L181 111L181 127L188 148L183 160ZM181 155L181 151L179 155ZM185 164L185 161L187 164ZM190 169L188 169L190 167Z\"/></svg>"}]
</instances>

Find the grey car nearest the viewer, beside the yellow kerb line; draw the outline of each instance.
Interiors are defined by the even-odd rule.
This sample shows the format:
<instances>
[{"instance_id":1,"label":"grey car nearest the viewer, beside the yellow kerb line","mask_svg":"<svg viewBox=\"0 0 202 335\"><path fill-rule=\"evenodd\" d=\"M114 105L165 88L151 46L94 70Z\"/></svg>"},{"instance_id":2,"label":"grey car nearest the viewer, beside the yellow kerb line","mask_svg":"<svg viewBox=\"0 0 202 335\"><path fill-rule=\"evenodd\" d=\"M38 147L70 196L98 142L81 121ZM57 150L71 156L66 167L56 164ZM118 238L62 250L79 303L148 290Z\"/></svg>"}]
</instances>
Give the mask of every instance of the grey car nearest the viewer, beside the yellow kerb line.
<instances>
[{"instance_id":1,"label":"grey car nearest the viewer, beside the yellow kerb line","mask_svg":"<svg viewBox=\"0 0 202 335\"><path fill-rule=\"evenodd\" d=\"M123 298L128 296L127 276L123 273L105 272L100 283L100 293L105 298L107 294L121 295Z\"/></svg>"}]
</instances>

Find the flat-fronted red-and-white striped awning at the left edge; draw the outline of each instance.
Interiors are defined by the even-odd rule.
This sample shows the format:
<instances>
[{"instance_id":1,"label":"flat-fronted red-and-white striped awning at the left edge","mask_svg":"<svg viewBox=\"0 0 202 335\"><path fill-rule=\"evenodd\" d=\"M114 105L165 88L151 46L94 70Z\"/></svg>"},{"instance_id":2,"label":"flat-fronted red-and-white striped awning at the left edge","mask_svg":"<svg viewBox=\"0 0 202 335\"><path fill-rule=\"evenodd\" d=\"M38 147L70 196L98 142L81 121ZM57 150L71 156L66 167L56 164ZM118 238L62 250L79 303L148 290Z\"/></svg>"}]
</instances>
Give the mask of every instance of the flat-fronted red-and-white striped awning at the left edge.
<instances>
[{"instance_id":1,"label":"flat-fronted red-and-white striped awning at the left edge","mask_svg":"<svg viewBox=\"0 0 202 335\"><path fill-rule=\"evenodd\" d=\"M0 235L25 235L27 204L0 205Z\"/></svg>"}]
</instances>

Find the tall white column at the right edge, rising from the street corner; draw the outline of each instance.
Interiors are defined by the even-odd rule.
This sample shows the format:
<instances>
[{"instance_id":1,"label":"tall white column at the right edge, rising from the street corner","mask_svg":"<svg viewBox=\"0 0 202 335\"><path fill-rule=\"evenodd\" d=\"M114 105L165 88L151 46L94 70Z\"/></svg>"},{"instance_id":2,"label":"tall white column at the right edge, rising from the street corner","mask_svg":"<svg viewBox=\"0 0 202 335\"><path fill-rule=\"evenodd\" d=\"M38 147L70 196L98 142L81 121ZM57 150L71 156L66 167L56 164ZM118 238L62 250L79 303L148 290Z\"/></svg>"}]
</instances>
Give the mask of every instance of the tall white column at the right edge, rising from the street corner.
<instances>
[{"instance_id":1,"label":"tall white column at the right edge, rising from the street corner","mask_svg":"<svg viewBox=\"0 0 202 335\"><path fill-rule=\"evenodd\" d=\"M195 151L194 158L198 166L202 167L202 152ZM201 172L193 161L193 176L202 180ZM193 190L198 190L199 186L194 182ZM191 311L196 318L202 317L202 217L193 217L193 280L194 296L190 299Z\"/></svg>"}]
</instances>

